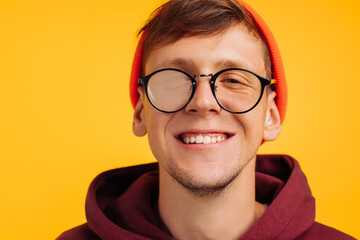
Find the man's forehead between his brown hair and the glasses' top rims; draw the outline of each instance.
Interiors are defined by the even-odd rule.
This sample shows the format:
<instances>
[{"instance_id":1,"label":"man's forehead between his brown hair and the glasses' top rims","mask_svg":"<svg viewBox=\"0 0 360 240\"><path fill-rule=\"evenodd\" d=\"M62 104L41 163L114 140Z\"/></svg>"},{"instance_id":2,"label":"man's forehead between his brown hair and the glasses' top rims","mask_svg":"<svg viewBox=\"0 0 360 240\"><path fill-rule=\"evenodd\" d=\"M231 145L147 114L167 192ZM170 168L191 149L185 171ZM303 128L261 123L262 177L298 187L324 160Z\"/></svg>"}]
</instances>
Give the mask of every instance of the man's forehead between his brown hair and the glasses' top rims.
<instances>
[{"instance_id":1,"label":"man's forehead between his brown hair and the glasses' top rims","mask_svg":"<svg viewBox=\"0 0 360 240\"><path fill-rule=\"evenodd\" d=\"M190 73L240 67L264 75L264 45L244 24L235 24L222 34L183 37L159 46L150 51L144 67L145 75L167 67Z\"/></svg>"}]
</instances>

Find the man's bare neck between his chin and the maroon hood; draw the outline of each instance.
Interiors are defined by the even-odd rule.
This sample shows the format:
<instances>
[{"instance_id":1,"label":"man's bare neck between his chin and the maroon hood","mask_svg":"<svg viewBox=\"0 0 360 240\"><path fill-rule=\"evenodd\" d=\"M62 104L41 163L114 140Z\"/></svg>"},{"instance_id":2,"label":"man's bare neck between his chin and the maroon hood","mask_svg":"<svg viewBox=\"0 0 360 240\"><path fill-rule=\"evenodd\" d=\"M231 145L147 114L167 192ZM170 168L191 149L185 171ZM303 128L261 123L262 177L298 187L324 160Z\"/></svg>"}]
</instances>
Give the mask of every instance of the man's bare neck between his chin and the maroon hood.
<instances>
[{"instance_id":1,"label":"man's bare neck between his chin and the maroon hood","mask_svg":"<svg viewBox=\"0 0 360 240\"><path fill-rule=\"evenodd\" d=\"M264 211L255 201L255 159L222 192L199 196L160 167L159 212L178 240L237 239Z\"/></svg>"}]
</instances>

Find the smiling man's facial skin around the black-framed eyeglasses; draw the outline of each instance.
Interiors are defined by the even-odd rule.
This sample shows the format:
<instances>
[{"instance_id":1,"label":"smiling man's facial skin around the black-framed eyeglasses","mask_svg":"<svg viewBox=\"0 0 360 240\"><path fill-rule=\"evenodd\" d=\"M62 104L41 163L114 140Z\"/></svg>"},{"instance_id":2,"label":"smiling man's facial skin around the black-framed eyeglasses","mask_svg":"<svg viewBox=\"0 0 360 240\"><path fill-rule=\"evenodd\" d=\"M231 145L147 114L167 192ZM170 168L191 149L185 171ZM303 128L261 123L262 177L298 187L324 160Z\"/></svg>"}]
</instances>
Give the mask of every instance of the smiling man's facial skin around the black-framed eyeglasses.
<instances>
[{"instance_id":1,"label":"smiling man's facial skin around the black-framed eyeglasses","mask_svg":"<svg viewBox=\"0 0 360 240\"><path fill-rule=\"evenodd\" d=\"M263 56L261 41L243 24L237 24L221 35L184 37L153 50L145 64L145 75L162 68L178 68L195 75L238 67L265 76ZM275 93L268 96L265 91L256 108L245 114L232 114L217 104L209 77L196 80L191 102L176 113L153 108L140 88L134 133L148 133L163 178L175 179L192 191L210 193L226 187L255 159L267 129L267 118L273 115L269 113L269 101L275 104ZM184 143L186 137L201 141L199 136L216 141Z\"/></svg>"}]
</instances>

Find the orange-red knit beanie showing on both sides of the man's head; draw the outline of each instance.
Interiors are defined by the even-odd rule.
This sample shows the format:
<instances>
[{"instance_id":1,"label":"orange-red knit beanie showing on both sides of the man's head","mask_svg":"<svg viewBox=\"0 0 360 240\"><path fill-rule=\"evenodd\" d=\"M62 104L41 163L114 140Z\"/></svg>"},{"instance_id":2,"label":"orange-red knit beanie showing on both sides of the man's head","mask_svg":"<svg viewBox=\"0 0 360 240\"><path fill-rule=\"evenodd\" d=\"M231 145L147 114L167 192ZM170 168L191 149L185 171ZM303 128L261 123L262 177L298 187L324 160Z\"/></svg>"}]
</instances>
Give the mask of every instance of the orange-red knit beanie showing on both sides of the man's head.
<instances>
[{"instance_id":1,"label":"orange-red knit beanie showing on both sides of the man's head","mask_svg":"<svg viewBox=\"0 0 360 240\"><path fill-rule=\"evenodd\" d=\"M280 113L280 122L283 123L286 112L287 105L287 87L286 87L286 78L284 67L282 64L279 48L275 42L275 39L266 25L264 20L257 14L249 5L245 4L241 0L238 0L239 3L251 13L255 24L258 26L259 30L264 35L265 41L268 45L270 52L270 58L272 63L272 78L276 80L275 82L275 91L276 91L276 105ZM142 56L143 56L143 47L142 43L144 41L146 31L144 31L140 37L138 45L135 50L135 55L132 63L131 76L130 76L130 99L133 107L135 108L138 100L139 94L137 92L138 80L142 74Z\"/></svg>"}]
</instances>

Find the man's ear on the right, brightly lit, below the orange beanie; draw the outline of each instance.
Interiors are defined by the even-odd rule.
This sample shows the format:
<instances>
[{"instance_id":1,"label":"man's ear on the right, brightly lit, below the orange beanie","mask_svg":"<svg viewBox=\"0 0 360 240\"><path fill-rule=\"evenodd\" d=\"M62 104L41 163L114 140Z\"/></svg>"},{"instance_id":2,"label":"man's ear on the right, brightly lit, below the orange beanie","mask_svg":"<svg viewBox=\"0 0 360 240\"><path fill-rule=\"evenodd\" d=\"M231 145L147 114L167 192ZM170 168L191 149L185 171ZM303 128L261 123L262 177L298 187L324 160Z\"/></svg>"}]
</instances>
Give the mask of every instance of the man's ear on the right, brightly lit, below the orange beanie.
<instances>
[{"instance_id":1,"label":"man's ear on the right, brightly lit, below the orange beanie","mask_svg":"<svg viewBox=\"0 0 360 240\"><path fill-rule=\"evenodd\" d=\"M268 93L268 105L266 109L265 126L264 126L264 140L274 141L280 133L280 114L275 103L276 92Z\"/></svg>"}]
</instances>

